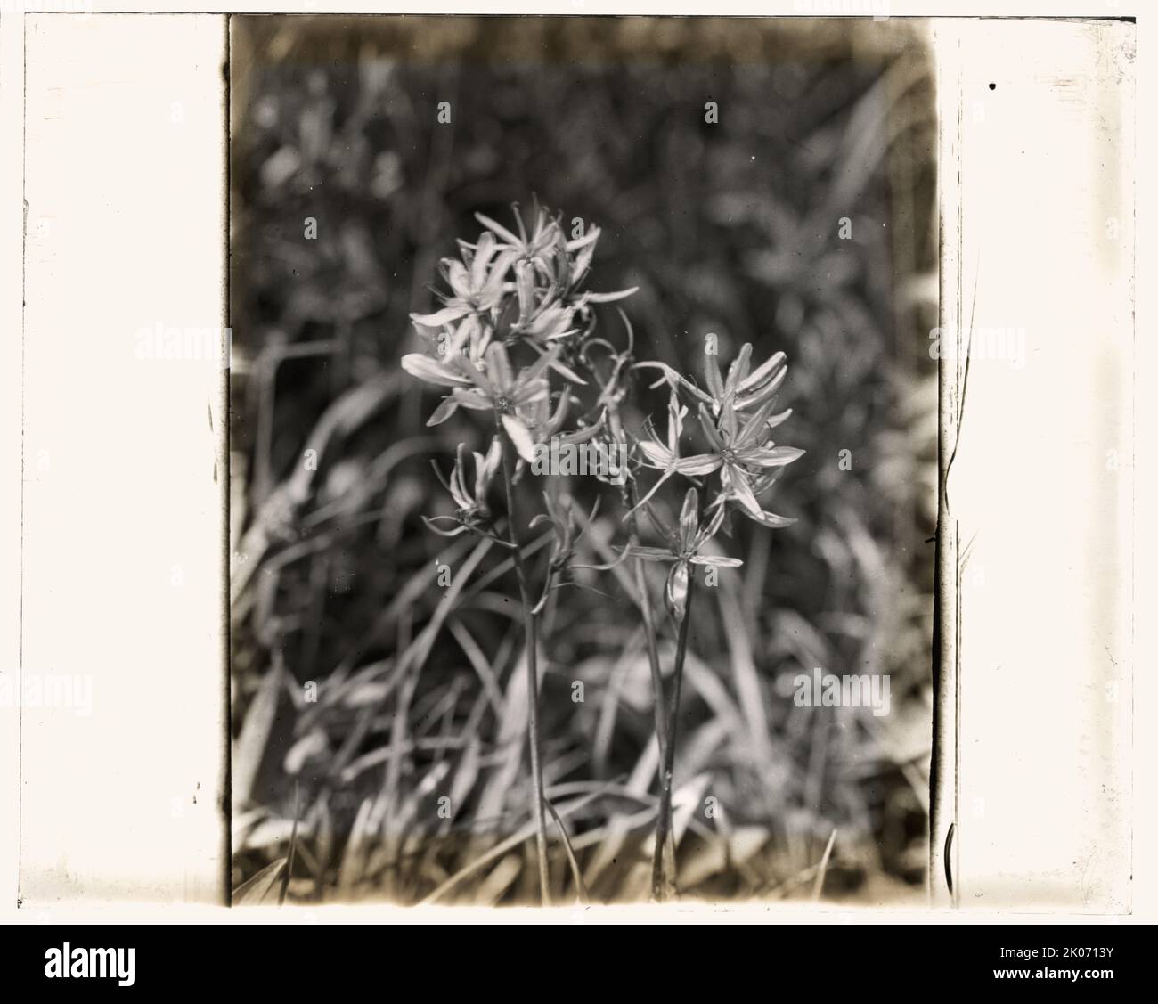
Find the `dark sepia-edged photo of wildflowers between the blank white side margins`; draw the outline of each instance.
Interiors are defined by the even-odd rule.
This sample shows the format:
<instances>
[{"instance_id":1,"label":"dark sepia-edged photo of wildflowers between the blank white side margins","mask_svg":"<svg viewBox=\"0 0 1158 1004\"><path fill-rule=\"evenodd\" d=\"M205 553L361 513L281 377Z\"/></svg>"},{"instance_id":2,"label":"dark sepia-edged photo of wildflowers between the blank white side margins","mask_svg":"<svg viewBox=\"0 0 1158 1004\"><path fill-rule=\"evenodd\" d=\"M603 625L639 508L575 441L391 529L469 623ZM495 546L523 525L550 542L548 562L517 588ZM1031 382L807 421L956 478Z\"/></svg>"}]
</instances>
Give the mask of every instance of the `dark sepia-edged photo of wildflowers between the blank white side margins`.
<instances>
[{"instance_id":1,"label":"dark sepia-edged photo of wildflowers between the blank white side margins","mask_svg":"<svg viewBox=\"0 0 1158 1004\"><path fill-rule=\"evenodd\" d=\"M919 899L921 28L232 31L240 895Z\"/></svg>"}]
</instances>

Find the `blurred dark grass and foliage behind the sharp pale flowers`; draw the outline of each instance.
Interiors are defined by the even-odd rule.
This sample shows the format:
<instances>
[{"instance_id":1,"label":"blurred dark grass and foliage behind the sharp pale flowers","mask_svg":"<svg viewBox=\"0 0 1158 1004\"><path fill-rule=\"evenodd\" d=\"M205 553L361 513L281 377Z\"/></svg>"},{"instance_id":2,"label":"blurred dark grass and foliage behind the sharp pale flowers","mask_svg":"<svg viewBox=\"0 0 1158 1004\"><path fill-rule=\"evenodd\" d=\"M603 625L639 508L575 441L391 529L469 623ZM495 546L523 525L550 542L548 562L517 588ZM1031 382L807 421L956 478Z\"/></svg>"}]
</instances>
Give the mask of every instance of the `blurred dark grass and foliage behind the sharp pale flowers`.
<instances>
[{"instance_id":1,"label":"blurred dark grass and foliage behind the sharp pale flowers","mask_svg":"<svg viewBox=\"0 0 1158 1004\"><path fill-rule=\"evenodd\" d=\"M932 83L915 29L232 25L235 881L285 856L296 815L292 899L413 902L527 821L508 577L486 581L498 558L483 555L482 586L448 606L437 562L457 572L476 542L420 520L449 511L430 459L445 470L460 440L489 433L469 417L426 430L435 396L398 360L422 351L408 315L435 306L438 261L477 239L474 213L510 225L512 201L537 199L569 232L574 218L603 229L589 285L639 287L623 306L640 358L698 378L709 331L724 362L745 342L757 361L789 356L780 400L794 415L777 439L808 453L768 507L799 522L738 527L726 545L745 565L695 621L676 757L697 808L677 812L682 889L808 895L836 830L824 896L918 894L937 261ZM450 125L437 123L441 101ZM601 324L621 337L610 308ZM648 403L661 413L662 393ZM653 730L638 615L614 579L600 588L614 602L570 589L555 607L543 734L552 797L589 797L567 825L592 896L622 900L646 894ZM796 708L792 677L814 666L891 674L891 714ZM444 794L453 819L438 816ZM534 900L528 847L442 899ZM562 888L565 860L554 864Z\"/></svg>"}]
</instances>

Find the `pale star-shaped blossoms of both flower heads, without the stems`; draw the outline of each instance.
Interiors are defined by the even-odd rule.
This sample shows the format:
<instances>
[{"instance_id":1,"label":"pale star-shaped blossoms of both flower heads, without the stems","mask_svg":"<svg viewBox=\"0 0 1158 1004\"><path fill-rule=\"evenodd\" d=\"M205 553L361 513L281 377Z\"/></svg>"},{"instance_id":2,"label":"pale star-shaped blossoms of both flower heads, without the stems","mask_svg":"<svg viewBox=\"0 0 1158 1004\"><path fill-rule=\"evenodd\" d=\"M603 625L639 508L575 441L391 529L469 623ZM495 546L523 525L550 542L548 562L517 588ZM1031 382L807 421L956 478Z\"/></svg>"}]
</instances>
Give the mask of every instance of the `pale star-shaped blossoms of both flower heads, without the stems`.
<instances>
[{"instance_id":1,"label":"pale star-shaped blossoms of both flower heads, without the stems","mask_svg":"<svg viewBox=\"0 0 1158 1004\"><path fill-rule=\"evenodd\" d=\"M485 457L475 454L472 492L467 490L467 452L460 448L447 483L456 505L452 533L490 533L485 496L501 460L500 438L510 441L519 459L518 478L522 466L532 462L536 445L581 444L599 437L633 457L628 477L638 501L632 512L643 508L669 548L637 543L630 551L642 560L674 563L666 596L668 609L681 620L680 582L687 580L691 565L739 564L704 550L725 526L730 511L765 527L792 523L767 511L761 501L784 467L802 454L771 438L791 415L790 410L776 411L777 391L787 374L784 353L753 367L752 345L746 344L725 375L714 352L705 352L703 386L666 364L636 361L630 324L626 350L593 334L593 305L635 292L585 288L600 237L598 227L567 240L559 220L543 210L537 211L529 232L518 211L516 232L482 214L477 219L484 228L478 240L474 244L460 241L460 256L441 263L447 286L440 294L442 306L411 315L431 340L433 353L411 353L402 360L406 372L449 391L428 425L466 409L489 412L499 433ZM621 419L620 404L630 390L632 373L648 368L659 371L660 382L669 387L667 428L661 435L648 419L633 435ZM586 409L585 396L593 398ZM681 444L687 438L689 406L695 409L692 426L698 426L703 448L686 454ZM576 420L569 425L572 417ZM658 474L650 486L639 483L645 470ZM690 481L691 488L683 497L677 526L669 527L653 499L674 477ZM543 515L558 525L559 513Z\"/></svg>"}]
</instances>

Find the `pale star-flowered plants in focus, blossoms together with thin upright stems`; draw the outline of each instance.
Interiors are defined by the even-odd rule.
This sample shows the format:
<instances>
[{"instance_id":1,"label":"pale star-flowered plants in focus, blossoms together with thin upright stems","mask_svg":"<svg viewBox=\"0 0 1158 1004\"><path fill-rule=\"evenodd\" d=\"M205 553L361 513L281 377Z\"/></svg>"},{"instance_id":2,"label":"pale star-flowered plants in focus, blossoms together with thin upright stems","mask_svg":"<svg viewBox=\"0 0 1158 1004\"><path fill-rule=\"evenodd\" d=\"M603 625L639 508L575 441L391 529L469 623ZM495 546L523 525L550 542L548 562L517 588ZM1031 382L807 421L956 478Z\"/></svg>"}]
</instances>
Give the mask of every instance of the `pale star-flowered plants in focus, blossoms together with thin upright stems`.
<instances>
[{"instance_id":1,"label":"pale star-flowered plants in focus, blossoms together with thin upright stems","mask_svg":"<svg viewBox=\"0 0 1158 1004\"><path fill-rule=\"evenodd\" d=\"M739 558L718 552L716 538L730 526L730 514L763 527L785 527L792 520L769 512L761 497L784 468L802 450L778 446L774 430L791 413L776 411L776 395L787 373L783 352L753 368L752 346L745 345L725 376L714 353L706 353L704 386L661 362L637 361L635 336L626 316L625 347L595 335L593 307L629 296L635 290L594 293L585 288L599 241L598 227L574 233L567 240L557 219L540 210L528 233L515 213L518 233L478 215L484 230L474 244L460 242L457 258L441 263L447 291L442 306L411 320L433 347L432 353L411 353L403 368L419 380L447 391L427 424L439 425L460 409L489 412L493 435L486 454L460 445L449 479L444 485L455 505L454 515L435 516L427 526L444 536L475 533L510 549L519 581L525 617L527 692L533 702L528 735L534 782L532 812L536 821L536 848L543 902L548 902L549 865L544 806L548 805L540 760L536 704L538 623L556 582L573 569L608 569L609 565L572 565L581 526L591 526L599 507L586 519L576 515L567 477L563 470L538 469L536 450L595 440L588 448L626 457L616 478L609 471L596 477L621 491L625 514L620 529L625 542L613 564L635 564L637 600L643 614L648 661L655 689L655 735L661 747L660 811L657 816L653 894L662 896L662 848L672 821L672 757L680 677L687 653L695 569L734 569ZM714 339L710 343L714 349ZM664 435L648 419L638 433L628 427L622 406L632 390L635 374L658 369L658 383L669 388L667 428ZM695 409L696 423L687 422ZM684 450L690 433L699 452ZM696 435L698 431L698 435ZM508 450L510 448L510 450ZM545 450L550 453L551 450ZM510 455L508 455L510 453ZM512 464L511 459L514 459ZM471 477L470 468L474 468ZM514 470L512 472L512 466ZM437 468L435 468L437 469ZM516 519L515 484L527 475L545 477L538 492L542 508L529 521ZM506 522L500 532L488 493L499 477L506 494ZM442 475L439 472L439 477ZM661 515L659 493L673 479L690 482L674 523ZM650 486L648 483L650 482ZM637 513L643 511L664 547L640 543ZM441 522L450 522L442 528ZM551 548L545 567L533 573L523 554L522 529L550 528ZM529 549L534 550L534 549ZM674 664L670 721L659 668L659 646L644 566L670 565L664 601L679 625ZM714 579L709 578L709 584ZM537 596L537 599L536 599Z\"/></svg>"}]
</instances>

